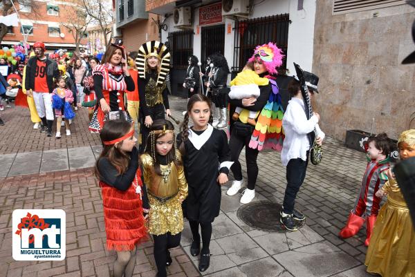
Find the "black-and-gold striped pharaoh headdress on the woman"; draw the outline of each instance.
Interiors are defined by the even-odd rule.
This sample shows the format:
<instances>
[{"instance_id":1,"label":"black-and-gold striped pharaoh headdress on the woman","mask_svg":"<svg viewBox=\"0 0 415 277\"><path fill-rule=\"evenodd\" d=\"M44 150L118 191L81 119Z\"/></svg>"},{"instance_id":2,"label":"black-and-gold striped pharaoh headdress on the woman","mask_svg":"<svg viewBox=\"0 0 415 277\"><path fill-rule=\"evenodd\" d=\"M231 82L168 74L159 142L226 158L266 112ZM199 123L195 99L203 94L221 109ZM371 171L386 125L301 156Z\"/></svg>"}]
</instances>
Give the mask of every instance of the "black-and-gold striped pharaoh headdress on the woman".
<instances>
[{"instance_id":1,"label":"black-and-gold striped pharaoh headdress on the woman","mask_svg":"<svg viewBox=\"0 0 415 277\"><path fill-rule=\"evenodd\" d=\"M170 70L170 52L167 50L167 46L156 40L147 41L145 44L142 44L140 49L138 49L136 58L136 66L140 78L145 78L145 71L147 69L146 60L148 57L157 57L160 61L160 72L158 73L157 84L162 85Z\"/></svg>"}]
</instances>

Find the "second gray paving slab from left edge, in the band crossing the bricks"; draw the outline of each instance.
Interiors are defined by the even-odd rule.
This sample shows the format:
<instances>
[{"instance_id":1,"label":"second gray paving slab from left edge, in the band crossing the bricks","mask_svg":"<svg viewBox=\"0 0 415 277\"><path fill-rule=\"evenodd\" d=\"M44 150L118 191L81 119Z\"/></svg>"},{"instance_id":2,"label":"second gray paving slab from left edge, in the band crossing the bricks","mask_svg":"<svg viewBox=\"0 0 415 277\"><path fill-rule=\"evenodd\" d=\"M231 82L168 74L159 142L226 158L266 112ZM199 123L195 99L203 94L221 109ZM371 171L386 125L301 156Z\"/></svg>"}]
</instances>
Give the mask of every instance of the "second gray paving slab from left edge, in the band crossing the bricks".
<instances>
[{"instance_id":1,"label":"second gray paving slab from left edge, in the band crossing the bricks","mask_svg":"<svg viewBox=\"0 0 415 277\"><path fill-rule=\"evenodd\" d=\"M17 153L8 176L39 173L42 152Z\"/></svg>"}]
</instances>

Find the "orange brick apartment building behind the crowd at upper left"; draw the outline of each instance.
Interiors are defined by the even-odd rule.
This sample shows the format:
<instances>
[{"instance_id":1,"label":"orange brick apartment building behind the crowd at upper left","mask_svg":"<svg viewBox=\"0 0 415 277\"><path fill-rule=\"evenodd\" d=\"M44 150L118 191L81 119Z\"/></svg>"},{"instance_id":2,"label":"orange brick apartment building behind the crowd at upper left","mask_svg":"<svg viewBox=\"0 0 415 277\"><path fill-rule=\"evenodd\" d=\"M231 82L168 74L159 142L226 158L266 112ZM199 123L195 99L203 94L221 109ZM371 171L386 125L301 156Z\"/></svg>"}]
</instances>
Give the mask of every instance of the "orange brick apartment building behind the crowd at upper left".
<instances>
[{"instance_id":1,"label":"orange brick apartment building behind the crowd at upper left","mask_svg":"<svg viewBox=\"0 0 415 277\"><path fill-rule=\"evenodd\" d=\"M18 4L17 4L18 5ZM73 14L77 0L53 2L35 1L36 8L19 7L21 21L19 26L10 27L9 33L1 41L4 45L18 44L24 41L22 28L28 35L28 43L33 45L35 41L44 41L48 50L66 48L75 49L75 39L68 28L61 22L65 22L68 15ZM82 39L81 44L86 44Z\"/></svg>"}]
</instances>

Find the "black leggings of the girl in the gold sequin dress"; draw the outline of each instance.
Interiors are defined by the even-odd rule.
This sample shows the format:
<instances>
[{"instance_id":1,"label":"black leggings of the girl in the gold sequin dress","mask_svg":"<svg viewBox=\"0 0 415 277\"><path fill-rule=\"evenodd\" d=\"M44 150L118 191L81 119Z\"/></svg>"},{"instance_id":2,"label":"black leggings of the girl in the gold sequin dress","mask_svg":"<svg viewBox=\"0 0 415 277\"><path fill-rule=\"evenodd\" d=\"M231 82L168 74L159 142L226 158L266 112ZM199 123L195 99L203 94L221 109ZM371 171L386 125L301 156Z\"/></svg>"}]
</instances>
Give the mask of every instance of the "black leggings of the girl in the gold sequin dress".
<instances>
[{"instance_id":1,"label":"black leggings of the girl in the gold sequin dress","mask_svg":"<svg viewBox=\"0 0 415 277\"><path fill-rule=\"evenodd\" d=\"M163 235L153 235L154 239L154 259L156 260L156 266L158 277L167 276L166 262L167 262L167 250L170 248L178 247L180 245L181 233L172 235L165 233Z\"/></svg>"}]
</instances>

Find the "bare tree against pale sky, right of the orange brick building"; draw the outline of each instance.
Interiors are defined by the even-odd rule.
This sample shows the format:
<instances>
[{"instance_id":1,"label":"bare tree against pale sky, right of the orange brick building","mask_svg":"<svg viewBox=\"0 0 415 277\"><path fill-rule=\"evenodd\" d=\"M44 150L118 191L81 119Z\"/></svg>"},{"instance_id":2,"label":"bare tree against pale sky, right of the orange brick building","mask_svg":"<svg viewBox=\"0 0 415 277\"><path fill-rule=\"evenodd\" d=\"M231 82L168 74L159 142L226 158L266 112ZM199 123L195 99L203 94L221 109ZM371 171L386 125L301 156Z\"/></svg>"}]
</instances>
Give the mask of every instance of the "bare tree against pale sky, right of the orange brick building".
<instances>
[{"instance_id":1,"label":"bare tree against pale sky, right of the orange brick building","mask_svg":"<svg viewBox=\"0 0 415 277\"><path fill-rule=\"evenodd\" d=\"M105 46L111 42L108 39L111 33L111 23L113 23L113 10L110 0L82 0L86 14L91 17L92 23L100 26L101 32L104 35Z\"/></svg>"}]
</instances>

